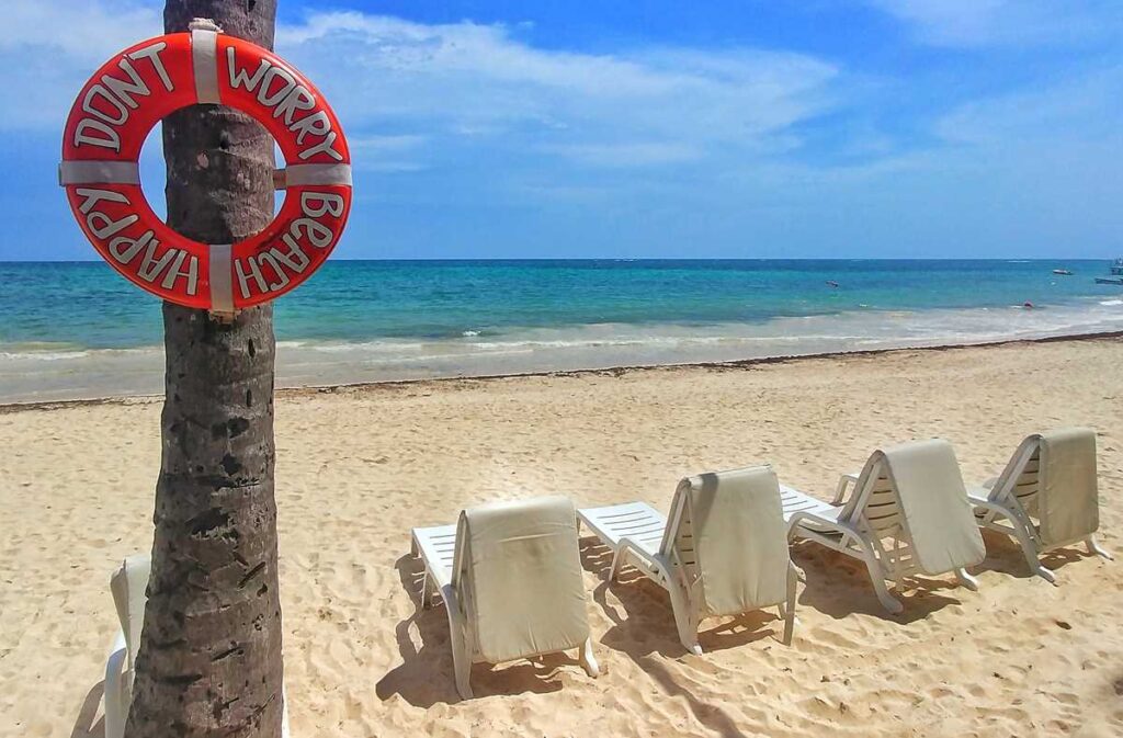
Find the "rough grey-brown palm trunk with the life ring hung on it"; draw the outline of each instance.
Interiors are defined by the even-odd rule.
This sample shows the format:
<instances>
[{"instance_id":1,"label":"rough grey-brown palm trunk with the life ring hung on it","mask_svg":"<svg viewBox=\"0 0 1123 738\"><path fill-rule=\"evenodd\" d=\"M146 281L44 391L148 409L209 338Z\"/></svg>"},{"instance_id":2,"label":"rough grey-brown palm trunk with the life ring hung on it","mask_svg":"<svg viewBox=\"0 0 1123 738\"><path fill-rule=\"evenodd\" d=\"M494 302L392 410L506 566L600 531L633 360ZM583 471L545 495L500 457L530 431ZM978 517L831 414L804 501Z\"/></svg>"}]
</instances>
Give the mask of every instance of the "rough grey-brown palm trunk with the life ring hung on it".
<instances>
[{"instance_id":1,"label":"rough grey-brown palm trunk with the life ring hung on it","mask_svg":"<svg viewBox=\"0 0 1123 738\"><path fill-rule=\"evenodd\" d=\"M167 0L273 46L276 0ZM245 115L193 106L164 121L167 221L229 244L273 217L273 140ZM281 605L273 499L273 311L232 325L164 304L166 397L155 541L127 738L279 738Z\"/></svg>"}]
</instances>

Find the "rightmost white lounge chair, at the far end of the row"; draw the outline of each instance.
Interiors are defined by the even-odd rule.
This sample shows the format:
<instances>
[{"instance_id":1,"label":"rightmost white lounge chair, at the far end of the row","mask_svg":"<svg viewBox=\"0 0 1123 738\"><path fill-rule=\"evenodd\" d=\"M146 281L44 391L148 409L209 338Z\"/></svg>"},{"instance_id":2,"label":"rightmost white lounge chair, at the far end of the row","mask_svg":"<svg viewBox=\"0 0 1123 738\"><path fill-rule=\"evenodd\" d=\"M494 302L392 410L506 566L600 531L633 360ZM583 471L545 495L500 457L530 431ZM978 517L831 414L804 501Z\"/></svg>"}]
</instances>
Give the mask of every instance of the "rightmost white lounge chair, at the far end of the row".
<instances>
[{"instance_id":1,"label":"rightmost white lounge chair, at the far end of the row","mask_svg":"<svg viewBox=\"0 0 1123 738\"><path fill-rule=\"evenodd\" d=\"M1112 555L1096 543L1099 491L1096 482L1096 434L1068 428L1026 437L1006 468L967 490L978 525L1013 537L1030 571L1057 583L1039 556L1084 543L1088 553Z\"/></svg>"}]
</instances>

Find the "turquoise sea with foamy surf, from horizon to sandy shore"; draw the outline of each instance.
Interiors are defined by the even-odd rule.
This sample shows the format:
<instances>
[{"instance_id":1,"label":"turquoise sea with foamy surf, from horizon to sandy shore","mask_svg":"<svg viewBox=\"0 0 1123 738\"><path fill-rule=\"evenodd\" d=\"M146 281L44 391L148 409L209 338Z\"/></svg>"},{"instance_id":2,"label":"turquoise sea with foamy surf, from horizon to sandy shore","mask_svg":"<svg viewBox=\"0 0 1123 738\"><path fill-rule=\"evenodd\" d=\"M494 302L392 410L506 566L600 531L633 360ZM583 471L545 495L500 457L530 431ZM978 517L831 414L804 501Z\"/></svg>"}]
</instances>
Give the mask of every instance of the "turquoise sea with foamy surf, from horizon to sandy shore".
<instances>
[{"instance_id":1,"label":"turquoise sea with foamy surf, from horizon to sandy shore","mask_svg":"<svg viewBox=\"0 0 1123 738\"><path fill-rule=\"evenodd\" d=\"M1123 288L1094 282L1107 266L335 261L277 302L279 379L367 382L1120 330ZM1052 274L1058 267L1075 274ZM3 263L0 284L0 401L161 390L159 304L107 265Z\"/></svg>"}]
</instances>

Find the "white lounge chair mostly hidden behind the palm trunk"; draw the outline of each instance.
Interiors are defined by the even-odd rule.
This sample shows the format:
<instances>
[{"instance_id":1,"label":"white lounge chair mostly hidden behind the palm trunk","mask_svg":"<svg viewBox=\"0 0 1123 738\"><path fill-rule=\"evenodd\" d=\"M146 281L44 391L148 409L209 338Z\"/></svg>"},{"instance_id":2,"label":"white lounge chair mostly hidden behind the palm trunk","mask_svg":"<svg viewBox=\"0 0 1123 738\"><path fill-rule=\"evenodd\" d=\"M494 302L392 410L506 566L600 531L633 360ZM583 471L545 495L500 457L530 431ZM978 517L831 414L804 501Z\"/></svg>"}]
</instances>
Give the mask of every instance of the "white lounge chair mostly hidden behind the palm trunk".
<instances>
[{"instance_id":1,"label":"white lounge chair mostly hidden behind the palm trunk","mask_svg":"<svg viewBox=\"0 0 1123 738\"><path fill-rule=\"evenodd\" d=\"M144 627L144 610L148 601L148 576L152 557L138 554L127 557L109 580L113 595L120 630L106 662L106 683L102 701L106 712L106 738L122 738L125 722L133 704L133 677L137 653L140 649L140 629ZM284 691L281 693L281 736L289 738L289 705Z\"/></svg>"}]
</instances>

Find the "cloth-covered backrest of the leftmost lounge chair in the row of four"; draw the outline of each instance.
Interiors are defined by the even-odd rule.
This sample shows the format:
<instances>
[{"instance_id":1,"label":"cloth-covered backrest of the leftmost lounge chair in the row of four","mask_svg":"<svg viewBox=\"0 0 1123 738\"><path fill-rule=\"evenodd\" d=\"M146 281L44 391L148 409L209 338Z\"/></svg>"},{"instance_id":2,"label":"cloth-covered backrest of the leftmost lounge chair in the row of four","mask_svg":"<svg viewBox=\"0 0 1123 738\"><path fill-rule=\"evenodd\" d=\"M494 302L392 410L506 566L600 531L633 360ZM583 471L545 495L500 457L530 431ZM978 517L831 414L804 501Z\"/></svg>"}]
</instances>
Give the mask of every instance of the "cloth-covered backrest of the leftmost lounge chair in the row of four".
<instances>
[{"instance_id":1,"label":"cloth-covered backrest of the leftmost lounge chair in the row of four","mask_svg":"<svg viewBox=\"0 0 1123 738\"><path fill-rule=\"evenodd\" d=\"M549 654L588 638L576 521L564 496L460 513L451 583L483 659Z\"/></svg>"}]
</instances>

